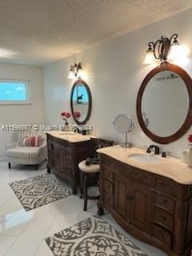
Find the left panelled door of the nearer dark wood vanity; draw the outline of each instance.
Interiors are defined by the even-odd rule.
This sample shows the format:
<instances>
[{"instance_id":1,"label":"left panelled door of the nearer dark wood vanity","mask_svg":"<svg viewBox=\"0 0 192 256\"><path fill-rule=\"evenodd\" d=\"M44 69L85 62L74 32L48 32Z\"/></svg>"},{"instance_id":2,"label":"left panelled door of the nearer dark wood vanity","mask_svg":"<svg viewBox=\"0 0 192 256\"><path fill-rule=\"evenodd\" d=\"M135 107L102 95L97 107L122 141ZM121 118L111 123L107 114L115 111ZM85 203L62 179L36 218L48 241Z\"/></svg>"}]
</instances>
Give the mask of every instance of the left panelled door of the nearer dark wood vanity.
<instances>
[{"instance_id":1,"label":"left panelled door of the nearer dark wood vanity","mask_svg":"<svg viewBox=\"0 0 192 256\"><path fill-rule=\"evenodd\" d=\"M115 210L123 218L126 218L127 220L129 220L128 195L130 194L130 180L118 174L115 174L114 180L115 180L115 186L114 186Z\"/></svg>"}]
</instances>

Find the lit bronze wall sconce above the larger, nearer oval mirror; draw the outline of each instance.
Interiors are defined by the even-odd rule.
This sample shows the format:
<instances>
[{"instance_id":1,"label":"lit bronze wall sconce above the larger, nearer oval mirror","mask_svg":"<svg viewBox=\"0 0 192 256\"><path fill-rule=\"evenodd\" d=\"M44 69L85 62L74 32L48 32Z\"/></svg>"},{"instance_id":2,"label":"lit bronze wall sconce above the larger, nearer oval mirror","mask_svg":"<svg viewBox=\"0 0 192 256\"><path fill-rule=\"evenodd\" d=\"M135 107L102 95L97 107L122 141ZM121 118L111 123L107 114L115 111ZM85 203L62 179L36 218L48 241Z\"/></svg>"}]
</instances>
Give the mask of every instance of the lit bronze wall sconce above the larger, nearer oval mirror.
<instances>
[{"instance_id":1,"label":"lit bronze wall sconce above the larger, nearer oval mirror","mask_svg":"<svg viewBox=\"0 0 192 256\"><path fill-rule=\"evenodd\" d=\"M156 42L148 43L148 50L146 51L146 58L143 64L153 64L160 60L164 62L169 59L177 58L179 52L178 34L172 34L169 38L163 36Z\"/></svg>"}]
</instances>

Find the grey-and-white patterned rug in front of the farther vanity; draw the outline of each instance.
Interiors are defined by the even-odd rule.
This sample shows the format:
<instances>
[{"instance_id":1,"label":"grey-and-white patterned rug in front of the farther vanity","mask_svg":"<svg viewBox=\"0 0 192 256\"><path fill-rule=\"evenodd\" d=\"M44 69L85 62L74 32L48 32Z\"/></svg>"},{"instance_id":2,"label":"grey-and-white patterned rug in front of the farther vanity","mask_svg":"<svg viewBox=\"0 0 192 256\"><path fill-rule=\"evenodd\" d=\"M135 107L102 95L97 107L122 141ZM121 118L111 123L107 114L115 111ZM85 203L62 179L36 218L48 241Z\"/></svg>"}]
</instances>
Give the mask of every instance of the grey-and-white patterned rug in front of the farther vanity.
<instances>
[{"instance_id":1,"label":"grey-and-white patterned rug in front of the farther vanity","mask_svg":"<svg viewBox=\"0 0 192 256\"><path fill-rule=\"evenodd\" d=\"M50 202L68 197L71 190L52 174L42 174L32 178L11 182L10 187L25 210L32 210Z\"/></svg>"}]
</instances>

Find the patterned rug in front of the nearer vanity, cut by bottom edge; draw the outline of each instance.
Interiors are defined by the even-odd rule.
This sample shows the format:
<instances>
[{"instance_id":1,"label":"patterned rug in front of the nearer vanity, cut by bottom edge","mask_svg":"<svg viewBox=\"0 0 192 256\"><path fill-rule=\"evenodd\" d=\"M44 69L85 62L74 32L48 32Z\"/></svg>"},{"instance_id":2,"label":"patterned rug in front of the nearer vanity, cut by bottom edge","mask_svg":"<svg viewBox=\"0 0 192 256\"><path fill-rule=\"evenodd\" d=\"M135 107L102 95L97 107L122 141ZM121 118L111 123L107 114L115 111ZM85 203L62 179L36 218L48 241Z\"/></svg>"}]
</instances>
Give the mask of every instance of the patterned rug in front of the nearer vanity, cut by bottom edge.
<instances>
[{"instance_id":1,"label":"patterned rug in front of the nearer vanity, cut by bottom edge","mask_svg":"<svg viewBox=\"0 0 192 256\"><path fill-rule=\"evenodd\" d=\"M98 216L46 238L55 256L147 256Z\"/></svg>"}]
</instances>

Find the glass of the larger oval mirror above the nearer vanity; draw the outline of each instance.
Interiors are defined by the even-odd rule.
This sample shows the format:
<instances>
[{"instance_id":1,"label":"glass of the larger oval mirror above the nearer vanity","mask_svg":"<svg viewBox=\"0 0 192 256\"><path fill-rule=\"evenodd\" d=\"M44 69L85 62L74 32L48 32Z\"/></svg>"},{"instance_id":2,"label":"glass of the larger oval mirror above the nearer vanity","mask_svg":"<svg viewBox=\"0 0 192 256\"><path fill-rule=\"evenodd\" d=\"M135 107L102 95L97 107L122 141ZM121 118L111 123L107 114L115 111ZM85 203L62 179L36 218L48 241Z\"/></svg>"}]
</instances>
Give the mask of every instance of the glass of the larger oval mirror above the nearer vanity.
<instances>
[{"instance_id":1,"label":"glass of the larger oval mirror above the nearer vanity","mask_svg":"<svg viewBox=\"0 0 192 256\"><path fill-rule=\"evenodd\" d=\"M189 94L186 83L175 72L162 70L147 83L141 102L147 129L159 137L176 133L186 120Z\"/></svg>"}]
</instances>

